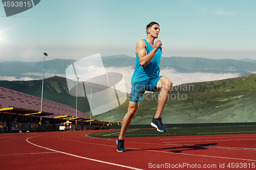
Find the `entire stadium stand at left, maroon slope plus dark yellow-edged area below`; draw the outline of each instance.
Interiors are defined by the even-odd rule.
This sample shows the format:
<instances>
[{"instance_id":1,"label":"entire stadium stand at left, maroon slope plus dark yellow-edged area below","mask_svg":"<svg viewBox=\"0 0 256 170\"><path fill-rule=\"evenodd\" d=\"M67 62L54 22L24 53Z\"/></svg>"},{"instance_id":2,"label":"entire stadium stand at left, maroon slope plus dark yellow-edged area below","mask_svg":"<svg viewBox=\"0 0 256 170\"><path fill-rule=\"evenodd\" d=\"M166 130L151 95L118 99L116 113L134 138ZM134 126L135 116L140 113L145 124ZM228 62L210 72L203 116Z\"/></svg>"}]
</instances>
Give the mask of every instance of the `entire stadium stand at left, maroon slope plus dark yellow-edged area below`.
<instances>
[{"instance_id":1,"label":"entire stadium stand at left, maroon slope plus dark yellow-edged area below","mask_svg":"<svg viewBox=\"0 0 256 170\"><path fill-rule=\"evenodd\" d=\"M66 120L71 120L72 130L106 129L109 125L121 123L102 122L76 109L61 103L43 99L30 94L0 87L0 133L8 131L7 122L16 118L17 123L11 124L14 131L56 131ZM41 124L41 116L44 120ZM77 121L77 124L75 124ZM41 121L40 121L41 122Z\"/></svg>"}]
</instances>

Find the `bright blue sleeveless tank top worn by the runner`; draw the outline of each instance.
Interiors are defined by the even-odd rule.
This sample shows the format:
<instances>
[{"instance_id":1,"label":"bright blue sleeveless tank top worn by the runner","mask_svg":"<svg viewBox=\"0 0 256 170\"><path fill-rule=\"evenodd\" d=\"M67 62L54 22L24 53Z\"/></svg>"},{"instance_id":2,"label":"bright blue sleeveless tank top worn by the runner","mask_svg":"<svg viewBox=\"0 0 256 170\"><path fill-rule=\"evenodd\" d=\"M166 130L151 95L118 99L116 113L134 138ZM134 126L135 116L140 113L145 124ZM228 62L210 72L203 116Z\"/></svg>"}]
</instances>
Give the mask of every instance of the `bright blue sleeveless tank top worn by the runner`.
<instances>
[{"instance_id":1,"label":"bright blue sleeveless tank top worn by the runner","mask_svg":"<svg viewBox=\"0 0 256 170\"><path fill-rule=\"evenodd\" d=\"M146 42L146 52L147 54L149 54L154 47L151 46L151 44L149 44L145 39L143 40ZM160 63L161 55L162 55L162 47L160 47L157 50L151 62L148 63L145 67L142 67L140 65L139 57L136 53L136 66L135 66L131 83L148 81L155 77L159 77L159 72L160 72L159 63Z\"/></svg>"}]
</instances>

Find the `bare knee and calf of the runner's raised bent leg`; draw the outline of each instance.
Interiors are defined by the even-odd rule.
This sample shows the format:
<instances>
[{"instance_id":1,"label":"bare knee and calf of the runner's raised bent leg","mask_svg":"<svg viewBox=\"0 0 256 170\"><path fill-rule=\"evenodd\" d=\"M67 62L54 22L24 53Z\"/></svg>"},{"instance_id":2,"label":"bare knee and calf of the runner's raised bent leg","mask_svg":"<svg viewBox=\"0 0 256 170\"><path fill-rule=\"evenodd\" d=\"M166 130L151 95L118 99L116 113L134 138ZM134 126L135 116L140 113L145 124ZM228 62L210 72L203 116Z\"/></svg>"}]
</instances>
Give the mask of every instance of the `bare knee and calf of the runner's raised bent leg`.
<instances>
[{"instance_id":1,"label":"bare knee and calf of the runner's raised bent leg","mask_svg":"<svg viewBox=\"0 0 256 170\"><path fill-rule=\"evenodd\" d=\"M158 81L157 88L161 89L161 92L159 94L157 111L154 118L161 117L163 108L168 100L169 93L172 87L173 82L165 76L161 77L160 80Z\"/></svg>"}]
</instances>

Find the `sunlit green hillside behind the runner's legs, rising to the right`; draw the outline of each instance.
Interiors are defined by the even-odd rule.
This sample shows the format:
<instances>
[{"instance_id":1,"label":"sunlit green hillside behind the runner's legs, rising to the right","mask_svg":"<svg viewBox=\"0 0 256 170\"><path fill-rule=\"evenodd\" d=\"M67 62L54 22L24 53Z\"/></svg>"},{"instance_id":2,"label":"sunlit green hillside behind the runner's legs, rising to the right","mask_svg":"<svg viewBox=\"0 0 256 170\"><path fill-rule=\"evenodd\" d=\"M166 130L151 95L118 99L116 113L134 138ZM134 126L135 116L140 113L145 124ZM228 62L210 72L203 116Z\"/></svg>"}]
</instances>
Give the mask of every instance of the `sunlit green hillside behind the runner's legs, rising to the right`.
<instances>
[{"instance_id":1,"label":"sunlit green hillside behind the runner's legs, rising to the right","mask_svg":"<svg viewBox=\"0 0 256 170\"><path fill-rule=\"evenodd\" d=\"M146 93L131 124L150 124L159 92ZM150 100L147 100L150 99ZM165 124L256 122L256 75L174 86L162 117ZM129 101L95 118L121 122Z\"/></svg>"}]
</instances>

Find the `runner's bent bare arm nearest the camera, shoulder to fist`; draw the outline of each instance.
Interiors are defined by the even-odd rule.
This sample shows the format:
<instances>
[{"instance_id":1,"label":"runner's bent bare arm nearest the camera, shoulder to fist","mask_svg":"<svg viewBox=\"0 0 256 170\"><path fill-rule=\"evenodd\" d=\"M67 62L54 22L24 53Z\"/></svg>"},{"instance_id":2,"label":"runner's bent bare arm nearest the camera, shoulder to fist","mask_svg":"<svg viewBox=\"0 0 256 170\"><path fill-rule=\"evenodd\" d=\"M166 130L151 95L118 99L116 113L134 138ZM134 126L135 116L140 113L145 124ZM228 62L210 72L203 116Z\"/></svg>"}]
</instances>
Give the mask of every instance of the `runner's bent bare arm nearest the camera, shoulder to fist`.
<instances>
[{"instance_id":1,"label":"runner's bent bare arm nearest the camera, shoulder to fist","mask_svg":"<svg viewBox=\"0 0 256 170\"><path fill-rule=\"evenodd\" d=\"M158 46L160 47L161 45L158 45ZM146 43L145 43L145 41L144 40L139 40L138 41L138 43L136 45L136 53L139 57L140 65L142 67L145 67L148 63L151 62L151 60L155 56L159 47L154 47L153 50L150 53L146 54Z\"/></svg>"}]
</instances>

